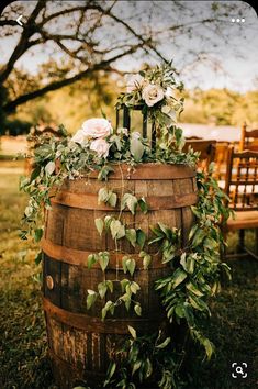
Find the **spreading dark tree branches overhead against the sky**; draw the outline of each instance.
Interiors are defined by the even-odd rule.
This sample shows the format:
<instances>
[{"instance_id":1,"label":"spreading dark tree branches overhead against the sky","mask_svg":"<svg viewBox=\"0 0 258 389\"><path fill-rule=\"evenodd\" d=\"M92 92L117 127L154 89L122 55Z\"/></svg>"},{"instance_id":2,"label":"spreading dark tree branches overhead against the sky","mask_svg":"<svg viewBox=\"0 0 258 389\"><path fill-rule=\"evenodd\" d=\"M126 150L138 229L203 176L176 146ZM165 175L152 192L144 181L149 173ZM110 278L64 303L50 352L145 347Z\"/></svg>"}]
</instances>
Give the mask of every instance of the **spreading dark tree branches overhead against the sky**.
<instances>
[{"instance_id":1,"label":"spreading dark tree branches overhead against the sky","mask_svg":"<svg viewBox=\"0 0 258 389\"><path fill-rule=\"evenodd\" d=\"M207 60L210 54L217 62L223 51L235 49L228 34L231 13L240 16L248 8L244 2L13 2L0 19L9 51L0 68L0 118L49 91L98 78L100 71L121 75L126 62L137 67L143 58L154 63L176 56L180 70ZM23 14L23 26L15 22L18 14ZM15 41L11 49L10 38ZM43 54L33 75L21 68L25 58L34 62Z\"/></svg>"}]
</instances>

